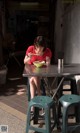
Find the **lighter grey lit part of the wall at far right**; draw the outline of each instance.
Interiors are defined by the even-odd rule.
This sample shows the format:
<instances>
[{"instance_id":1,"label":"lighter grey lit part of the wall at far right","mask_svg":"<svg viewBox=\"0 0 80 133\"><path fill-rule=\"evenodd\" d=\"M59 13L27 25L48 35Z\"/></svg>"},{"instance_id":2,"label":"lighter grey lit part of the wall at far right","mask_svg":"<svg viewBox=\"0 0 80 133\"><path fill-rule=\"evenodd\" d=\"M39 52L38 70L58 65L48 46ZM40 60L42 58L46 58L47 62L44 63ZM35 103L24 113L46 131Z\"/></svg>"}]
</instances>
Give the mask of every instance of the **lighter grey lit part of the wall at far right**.
<instances>
[{"instance_id":1,"label":"lighter grey lit part of the wall at far right","mask_svg":"<svg viewBox=\"0 0 80 133\"><path fill-rule=\"evenodd\" d=\"M63 49L66 63L80 63L80 3L69 6L63 15Z\"/></svg>"}]
</instances>

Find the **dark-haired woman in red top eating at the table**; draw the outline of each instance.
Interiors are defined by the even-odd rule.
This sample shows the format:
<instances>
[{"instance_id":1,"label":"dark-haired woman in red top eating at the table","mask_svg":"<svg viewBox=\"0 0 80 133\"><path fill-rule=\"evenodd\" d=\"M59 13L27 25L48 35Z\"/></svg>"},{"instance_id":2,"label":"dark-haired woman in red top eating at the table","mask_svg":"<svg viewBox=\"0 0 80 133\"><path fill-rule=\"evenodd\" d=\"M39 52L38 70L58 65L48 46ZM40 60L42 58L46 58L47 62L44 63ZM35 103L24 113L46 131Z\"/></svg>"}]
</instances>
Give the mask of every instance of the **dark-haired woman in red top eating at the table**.
<instances>
[{"instance_id":1,"label":"dark-haired woman in red top eating at the table","mask_svg":"<svg viewBox=\"0 0 80 133\"><path fill-rule=\"evenodd\" d=\"M26 50L26 55L24 58L24 64L33 64L34 61L45 61L46 65L50 64L52 57L52 52L47 48L45 38L43 36L38 36L34 40L34 44L29 46ZM38 95L41 95L40 90L40 78L30 77L30 94L31 99L35 96L36 91Z\"/></svg>"}]
</instances>

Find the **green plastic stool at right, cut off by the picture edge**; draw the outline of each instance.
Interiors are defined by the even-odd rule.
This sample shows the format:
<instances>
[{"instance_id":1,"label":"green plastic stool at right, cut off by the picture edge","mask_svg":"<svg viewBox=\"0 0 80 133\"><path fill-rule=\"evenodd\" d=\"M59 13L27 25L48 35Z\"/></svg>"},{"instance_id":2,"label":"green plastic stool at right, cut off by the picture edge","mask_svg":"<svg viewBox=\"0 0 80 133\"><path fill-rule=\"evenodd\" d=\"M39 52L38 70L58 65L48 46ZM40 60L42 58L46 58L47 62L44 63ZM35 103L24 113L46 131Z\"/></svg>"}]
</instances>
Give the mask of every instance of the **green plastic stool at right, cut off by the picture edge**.
<instances>
[{"instance_id":1,"label":"green plastic stool at right, cut off by the picture edge","mask_svg":"<svg viewBox=\"0 0 80 133\"><path fill-rule=\"evenodd\" d=\"M62 133L68 133L68 109L71 106L77 107L77 113L75 112L76 117L80 117L80 96L74 94L63 95L59 99L60 104L63 107L63 116L62 116ZM80 121L80 118L79 118ZM75 128L78 125L74 125ZM73 127L73 126L72 126Z\"/></svg>"}]
</instances>

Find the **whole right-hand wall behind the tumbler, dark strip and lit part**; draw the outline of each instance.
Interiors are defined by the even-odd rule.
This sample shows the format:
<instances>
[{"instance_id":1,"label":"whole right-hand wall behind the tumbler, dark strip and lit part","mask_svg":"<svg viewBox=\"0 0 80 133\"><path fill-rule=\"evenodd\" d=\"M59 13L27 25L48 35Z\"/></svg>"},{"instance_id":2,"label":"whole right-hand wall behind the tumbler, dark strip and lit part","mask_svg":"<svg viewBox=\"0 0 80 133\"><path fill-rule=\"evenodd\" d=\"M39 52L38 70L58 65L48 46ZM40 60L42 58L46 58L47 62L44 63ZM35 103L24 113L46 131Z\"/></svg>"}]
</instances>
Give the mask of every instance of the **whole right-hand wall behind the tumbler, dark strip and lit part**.
<instances>
[{"instance_id":1,"label":"whole right-hand wall behind the tumbler, dark strip and lit part","mask_svg":"<svg viewBox=\"0 0 80 133\"><path fill-rule=\"evenodd\" d=\"M58 51L64 51L65 63L80 63L80 3L69 3L65 10L63 5L58 0L54 34L55 60L57 62Z\"/></svg>"}]
</instances>

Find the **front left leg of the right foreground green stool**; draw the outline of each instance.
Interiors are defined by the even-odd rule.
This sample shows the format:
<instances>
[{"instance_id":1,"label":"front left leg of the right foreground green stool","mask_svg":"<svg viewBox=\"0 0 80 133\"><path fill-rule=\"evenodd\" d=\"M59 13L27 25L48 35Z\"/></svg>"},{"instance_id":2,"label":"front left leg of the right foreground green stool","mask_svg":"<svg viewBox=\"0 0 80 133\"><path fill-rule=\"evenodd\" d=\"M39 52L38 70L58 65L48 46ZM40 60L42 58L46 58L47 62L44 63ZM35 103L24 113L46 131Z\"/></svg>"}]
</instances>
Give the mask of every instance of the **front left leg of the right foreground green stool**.
<instances>
[{"instance_id":1,"label":"front left leg of the right foreground green stool","mask_svg":"<svg viewBox=\"0 0 80 133\"><path fill-rule=\"evenodd\" d=\"M67 107L68 108L68 107ZM66 107L63 108L63 116L62 116L62 133L68 133L68 110Z\"/></svg>"}]
</instances>

